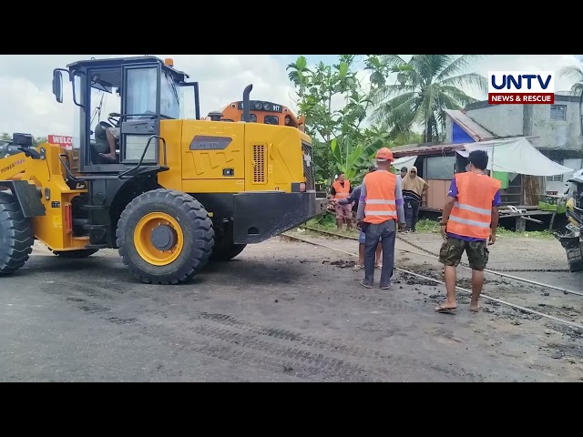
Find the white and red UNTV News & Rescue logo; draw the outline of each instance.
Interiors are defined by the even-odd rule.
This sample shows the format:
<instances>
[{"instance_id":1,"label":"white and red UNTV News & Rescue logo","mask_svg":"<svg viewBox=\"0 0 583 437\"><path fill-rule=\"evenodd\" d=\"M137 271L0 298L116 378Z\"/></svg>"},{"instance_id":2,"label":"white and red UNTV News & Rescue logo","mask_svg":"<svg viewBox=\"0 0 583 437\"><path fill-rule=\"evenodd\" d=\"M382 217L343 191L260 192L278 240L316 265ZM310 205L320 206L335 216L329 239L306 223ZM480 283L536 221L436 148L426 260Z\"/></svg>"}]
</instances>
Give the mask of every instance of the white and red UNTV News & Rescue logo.
<instances>
[{"instance_id":1,"label":"white and red UNTV News & Rescue logo","mask_svg":"<svg viewBox=\"0 0 583 437\"><path fill-rule=\"evenodd\" d=\"M490 105L552 105L555 103L554 71L489 71Z\"/></svg>"}]
</instances>

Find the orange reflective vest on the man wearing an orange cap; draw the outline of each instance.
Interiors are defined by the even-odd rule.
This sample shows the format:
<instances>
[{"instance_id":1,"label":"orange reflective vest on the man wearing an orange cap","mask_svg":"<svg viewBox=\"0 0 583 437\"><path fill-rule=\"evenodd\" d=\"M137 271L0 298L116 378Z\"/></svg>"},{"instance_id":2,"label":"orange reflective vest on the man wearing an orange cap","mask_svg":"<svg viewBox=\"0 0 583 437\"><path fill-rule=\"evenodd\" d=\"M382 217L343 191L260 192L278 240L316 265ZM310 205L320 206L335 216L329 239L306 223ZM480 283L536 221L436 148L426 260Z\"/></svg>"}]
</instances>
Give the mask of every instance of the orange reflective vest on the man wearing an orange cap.
<instances>
[{"instance_id":1,"label":"orange reflective vest on the man wearing an orange cap","mask_svg":"<svg viewBox=\"0 0 583 437\"><path fill-rule=\"evenodd\" d=\"M364 222L379 224L397 220L397 207L394 198L396 176L388 171L377 170L364 177L366 198L364 199Z\"/></svg>"}]
</instances>

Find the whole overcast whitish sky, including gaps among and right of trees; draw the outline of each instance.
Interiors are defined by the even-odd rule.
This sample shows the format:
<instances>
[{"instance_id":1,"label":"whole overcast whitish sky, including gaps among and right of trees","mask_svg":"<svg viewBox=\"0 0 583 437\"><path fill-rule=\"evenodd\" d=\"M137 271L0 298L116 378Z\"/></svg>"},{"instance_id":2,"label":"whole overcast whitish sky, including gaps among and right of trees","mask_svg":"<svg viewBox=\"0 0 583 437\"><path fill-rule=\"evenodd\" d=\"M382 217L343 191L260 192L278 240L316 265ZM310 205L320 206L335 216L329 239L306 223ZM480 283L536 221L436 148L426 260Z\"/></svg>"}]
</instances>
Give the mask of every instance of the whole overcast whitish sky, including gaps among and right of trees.
<instances>
[{"instance_id":1,"label":"whole overcast whitish sky, including gaps among and right of trees","mask_svg":"<svg viewBox=\"0 0 583 437\"><path fill-rule=\"evenodd\" d=\"M26 132L35 137L73 134L71 91L65 82L65 102L56 103L51 92L52 71L56 67L91 57L123 55L21 55L0 56L0 132ZM292 107L293 88L285 67L299 55L155 55L172 57L174 66L199 81L201 115L240 100L243 88L253 84L251 98L270 100ZM403 55L406 59L410 55ZM334 55L308 55L313 65L330 63ZM476 63L470 71L484 76L490 70L543 70L562 66L583 66L578 55L493 55ZM362 68L362 63L359 63ZM364 73L361 74L366 81ZM556 91L570 83L556 79ZM486 96L476 95L477 98ZM103 116L102 116L103 117ZM106 116L107 118L107 116Z\"/></svg>"}]
</instances>

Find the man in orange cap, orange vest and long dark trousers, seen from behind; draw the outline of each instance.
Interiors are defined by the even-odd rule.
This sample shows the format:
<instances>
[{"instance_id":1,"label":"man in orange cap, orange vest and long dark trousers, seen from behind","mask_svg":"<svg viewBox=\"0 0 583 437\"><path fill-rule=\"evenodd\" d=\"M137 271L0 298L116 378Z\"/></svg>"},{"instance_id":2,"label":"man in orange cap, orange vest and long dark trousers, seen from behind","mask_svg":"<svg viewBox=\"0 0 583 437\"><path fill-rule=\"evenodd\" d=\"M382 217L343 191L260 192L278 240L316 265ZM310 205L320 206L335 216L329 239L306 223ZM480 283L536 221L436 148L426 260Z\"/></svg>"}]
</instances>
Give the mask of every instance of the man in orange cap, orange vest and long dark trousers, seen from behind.
<instances>
[{"instance_id":1,"label":"man in orange cap, orange vest and long dark trousers, seen from behind","mask_svg":"<svg viewBox=\"0 0 583 437\"><path fill-rule=\"evenodd\" d=\"M361 222L364 239L364 279L361 285L367 289L374 283L374 252L379 238L383 244L381 289L391 288L394 269L394 243L397 221L404 226L404 201L401 179L391 173L393 152L387 147L376 153L378 170L364 177L356 219Z\"/></svg>"}]
</instances>

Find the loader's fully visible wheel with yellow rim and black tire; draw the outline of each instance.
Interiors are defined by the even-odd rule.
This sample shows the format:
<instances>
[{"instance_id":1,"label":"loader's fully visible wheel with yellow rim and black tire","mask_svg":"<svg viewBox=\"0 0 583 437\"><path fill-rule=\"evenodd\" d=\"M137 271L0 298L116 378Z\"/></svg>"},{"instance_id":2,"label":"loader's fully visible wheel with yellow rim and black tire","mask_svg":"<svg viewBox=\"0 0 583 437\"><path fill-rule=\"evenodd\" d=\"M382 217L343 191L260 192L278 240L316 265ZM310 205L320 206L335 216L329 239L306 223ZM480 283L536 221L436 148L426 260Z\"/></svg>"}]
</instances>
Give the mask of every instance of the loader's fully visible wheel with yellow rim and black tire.
<instances>
[{"instance_id":1,"label":"loader's fully visible wheel with yellow rim and black tire","mask_svg":"<svg viewBox=\"0 0 583 437\"><path fill-rule=\"evenodd\" d=\"M147 284L179 284L207 264L215 232L207 210L188 194L154 189L129 202L116 233L133 275Z\"/></svg>"}]
</instances>

